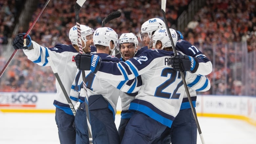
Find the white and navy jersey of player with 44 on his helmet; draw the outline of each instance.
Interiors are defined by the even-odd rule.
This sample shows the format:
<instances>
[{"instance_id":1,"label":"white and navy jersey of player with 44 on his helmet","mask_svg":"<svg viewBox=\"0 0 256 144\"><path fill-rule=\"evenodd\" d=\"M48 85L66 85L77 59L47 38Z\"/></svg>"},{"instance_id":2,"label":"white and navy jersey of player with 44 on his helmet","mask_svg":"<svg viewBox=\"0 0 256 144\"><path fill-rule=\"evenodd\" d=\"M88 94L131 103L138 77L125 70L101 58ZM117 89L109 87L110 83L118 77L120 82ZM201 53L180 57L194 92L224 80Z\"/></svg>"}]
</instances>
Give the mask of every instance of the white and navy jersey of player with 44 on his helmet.
<instances>
[{"instance_id":1,"label":"white and navy jersey of player with 44 on his helmet","mask_svg":"<svg viewBox=\"0 0 256 144\"><path fill-rule=\"evenodd\" d=\"M96 53L96 55L101 57L101 61L105 62L119 62L119 59L115 56L108 55L106 53ZM86 76L86 86L87 86L87 95L101 94L109 104L109 109L113 112L114 116L117 112L117 100L120 90L118 87L123 86L125 83L120 83L119 81L111 81L103 78L96 77L95 74L91 71L85 71ZM77 100L79 96L79 101L83 103L85 101L85 91L83 90L83 79L80 70L77 70L75 80L73 81L70 96L72 99ZM133 82L131 82L133 84ZM126 86L125 90L129 91L130 86Z\"/></svg>"}]
</instances>

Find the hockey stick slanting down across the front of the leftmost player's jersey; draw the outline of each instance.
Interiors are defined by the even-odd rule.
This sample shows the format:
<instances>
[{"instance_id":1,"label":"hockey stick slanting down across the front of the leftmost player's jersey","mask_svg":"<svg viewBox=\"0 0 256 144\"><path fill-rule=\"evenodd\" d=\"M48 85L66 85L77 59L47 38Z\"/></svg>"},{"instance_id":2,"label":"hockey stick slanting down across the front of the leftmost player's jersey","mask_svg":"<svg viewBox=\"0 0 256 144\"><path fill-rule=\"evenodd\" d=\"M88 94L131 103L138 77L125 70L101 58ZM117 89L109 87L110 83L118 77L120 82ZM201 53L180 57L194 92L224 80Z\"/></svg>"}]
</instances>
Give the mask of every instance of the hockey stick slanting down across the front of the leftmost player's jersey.
<instances>
[{"instance_id":1,"label":"hockey stick slanting down across the front of the leftmost player's jersey","mask_svg":"<svg viewBox=\"0 0 256 144\"><path fill-rule=\"evenodd\" d=\"M52 61L52 59L51 59L51 57L50 57L50 53L49 53L49 56L47 57L47 59L48 59L49 64L50 64L50 66L51 66L51 68L52 68L52 70L53 70L53 73L54 73L54 75L55 75L55 77L56 77L56 79L57 79L57 81L58 81L58 83L59 83L59 85L60 85L60 88L61 88L62 92L64 93L65 98L66 98L67 101L68 101L69 107L70 107L72 113L73 113L74 116L75 116L75 114L76 114L75 108L74 108L74 106L73 106L73 104L72 104L72 102L71 102L71 100L70 100L70 98L69 98L69 95L68 95L68 93L67 93L67 91L66 91L66 89L65 89L65 87L64 87L64 85L63 85L63 83L62 83L62 81L61 81L61 79L60 79L60 77L59 77L59 74L58 74L57 70L55 69L55 67L54 67L54 65L53 65L53 61Z\"/></svg>"}]
</instances>

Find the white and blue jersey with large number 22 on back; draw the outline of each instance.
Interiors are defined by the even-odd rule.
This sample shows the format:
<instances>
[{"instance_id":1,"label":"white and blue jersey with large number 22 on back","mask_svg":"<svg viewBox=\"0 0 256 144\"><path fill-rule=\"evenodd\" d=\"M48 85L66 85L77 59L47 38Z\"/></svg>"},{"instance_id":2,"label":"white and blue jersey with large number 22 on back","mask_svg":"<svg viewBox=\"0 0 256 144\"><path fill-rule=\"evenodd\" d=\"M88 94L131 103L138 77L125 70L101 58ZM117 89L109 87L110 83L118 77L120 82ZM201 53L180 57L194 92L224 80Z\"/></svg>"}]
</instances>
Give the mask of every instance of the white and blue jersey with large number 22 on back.
<instances>
[{"instance_id":1,"label":"white and blue jersey with large number 22 on back","mask_svg":"<svg viewBox=\"0 0 256 144\"><path fill-rule=\"evenodd\" d=\"M96 77L123 81L140 75L142 86L129 110L145 113L171 127L185 92L181 75L169 65L173 55L172 51L149 49L125 62L101 62ZM207 77L190 72L184 72L184 75L193 90L210 89Z\"/></svg>"}]
</instances>

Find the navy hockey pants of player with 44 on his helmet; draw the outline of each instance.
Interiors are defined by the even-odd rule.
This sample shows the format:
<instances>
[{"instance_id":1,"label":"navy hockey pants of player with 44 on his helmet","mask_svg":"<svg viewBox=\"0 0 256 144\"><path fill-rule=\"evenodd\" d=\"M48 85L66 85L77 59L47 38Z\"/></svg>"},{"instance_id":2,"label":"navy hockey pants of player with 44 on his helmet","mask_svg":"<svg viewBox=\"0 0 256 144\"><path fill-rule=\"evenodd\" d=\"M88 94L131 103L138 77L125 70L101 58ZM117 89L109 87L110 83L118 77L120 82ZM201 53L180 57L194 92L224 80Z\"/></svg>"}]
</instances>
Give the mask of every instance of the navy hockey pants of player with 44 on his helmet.
<instances>
[{"instance_id":1,"label":"navy hockey pants of player with 44 on his helmet","mask_svg":"<svg viewBox=\"0 0 256 144\"><path fill-rule=\"evenodd\" d=\"M119 144L119 136L108 103L101 95L89 97L89 112L94 144ZM89 144L85 103L81 103L75 115L76 144Z\"/></svg>"}]
</instances>

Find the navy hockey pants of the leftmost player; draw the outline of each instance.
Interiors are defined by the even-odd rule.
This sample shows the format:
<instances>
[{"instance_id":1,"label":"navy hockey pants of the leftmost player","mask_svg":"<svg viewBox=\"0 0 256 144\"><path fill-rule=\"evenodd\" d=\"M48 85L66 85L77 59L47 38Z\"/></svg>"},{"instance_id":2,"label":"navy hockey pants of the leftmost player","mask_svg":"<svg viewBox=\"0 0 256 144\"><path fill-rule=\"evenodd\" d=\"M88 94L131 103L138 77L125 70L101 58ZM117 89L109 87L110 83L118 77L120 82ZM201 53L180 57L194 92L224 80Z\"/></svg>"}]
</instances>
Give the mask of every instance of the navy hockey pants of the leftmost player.
<instances>
[{"instance_id":1,"label":"navy hockey pants of the leftmost player","mask_svg":"<svg viewBox=\"0 0 256 144\"><path fill-rule=\"evenodd\" d=\"M55 121L58 127L60 144L75 144L75 116L56 108Z\"/></svg>"}]
</instances>

